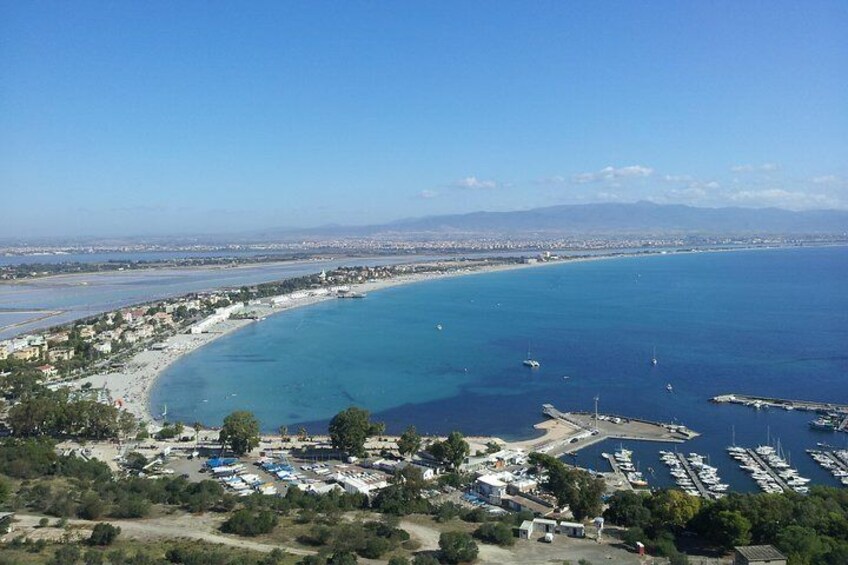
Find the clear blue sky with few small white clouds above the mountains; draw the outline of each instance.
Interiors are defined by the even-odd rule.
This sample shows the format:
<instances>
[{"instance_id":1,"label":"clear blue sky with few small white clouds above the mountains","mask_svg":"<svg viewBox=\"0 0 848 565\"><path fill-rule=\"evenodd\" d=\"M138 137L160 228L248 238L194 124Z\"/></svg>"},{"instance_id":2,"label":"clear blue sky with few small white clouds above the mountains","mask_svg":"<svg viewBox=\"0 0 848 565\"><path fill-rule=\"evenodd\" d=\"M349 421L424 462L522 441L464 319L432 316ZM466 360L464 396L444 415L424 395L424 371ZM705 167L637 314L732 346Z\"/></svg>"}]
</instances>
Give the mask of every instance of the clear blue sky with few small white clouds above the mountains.
<instances>
[{"instance_id":1,"label":"clear blue sky with few small white clouds above the mountains","mask_svg":"<svg viewBox=\"0 0 848 565\"><path fill-rule=\"evenodd\" d=\"M846 2L3 2L0 236L848 208Z\"/></svg>"}]
</instances>

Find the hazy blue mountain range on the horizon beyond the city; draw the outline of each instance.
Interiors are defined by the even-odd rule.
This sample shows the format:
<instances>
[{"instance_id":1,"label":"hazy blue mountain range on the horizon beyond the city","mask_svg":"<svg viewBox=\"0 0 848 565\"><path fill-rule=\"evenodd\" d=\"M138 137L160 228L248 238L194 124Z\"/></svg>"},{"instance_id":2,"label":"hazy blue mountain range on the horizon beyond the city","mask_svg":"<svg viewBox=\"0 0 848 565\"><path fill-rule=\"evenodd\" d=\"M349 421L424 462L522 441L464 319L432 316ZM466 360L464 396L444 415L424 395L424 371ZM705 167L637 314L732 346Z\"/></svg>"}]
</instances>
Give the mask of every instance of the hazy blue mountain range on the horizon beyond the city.
<instances>
[{"instance_id":1,"label":"hazy blue mountain range on the horizon beyond the city","mask_svg":"<svg viewBox=\"0 0 848 565\"><path fill-rule=\"evenodd\" d=\"M652 202L577 204L518 212L472 212L408 218L370 226L265 230L262 239L309 237L461 236L486 234L844 234L848 211L696 208Z\"/></svg>"}]
</instances>

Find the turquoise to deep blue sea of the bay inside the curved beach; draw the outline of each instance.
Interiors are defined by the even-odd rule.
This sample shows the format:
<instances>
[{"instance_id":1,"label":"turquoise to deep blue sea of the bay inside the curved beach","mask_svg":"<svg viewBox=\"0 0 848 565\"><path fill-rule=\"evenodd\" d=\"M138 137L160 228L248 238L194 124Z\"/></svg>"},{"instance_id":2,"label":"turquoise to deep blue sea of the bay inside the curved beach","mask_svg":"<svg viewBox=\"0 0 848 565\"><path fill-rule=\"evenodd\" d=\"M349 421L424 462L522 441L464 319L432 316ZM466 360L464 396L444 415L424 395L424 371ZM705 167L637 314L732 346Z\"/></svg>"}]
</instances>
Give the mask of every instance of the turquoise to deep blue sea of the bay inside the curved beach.
<instances>
[{"instance_id":1,"label":"turquoise to deep blue sea of the bay inside the curved beach","mask_svg":"<svg viewBox=\"0 0 848 565\"><path fill-rule=\"evenodd\" d=\"M443 331L437 331L442 324ZM521 365L528 347L542 366ZM659 364L650 365L656 347ZM570 376L564 380L564 375ZM293 310L188 355L154 406L220 424L249 409L267 429L323 431L339 410L370 409L390 431L528 437L541 404L683 422L735 487L754 484L724 448L780 437L793 463L835 484L803 450L809 413L721 406L727 392L848 402L848 248L664 255L446 279ZM669 394L666 383L672 383ZM629 442L653 484L667 446ZM587 466L610 445L578 456ZM649 480L652 478L649 477Z\"/></svg>"}]
</instances>

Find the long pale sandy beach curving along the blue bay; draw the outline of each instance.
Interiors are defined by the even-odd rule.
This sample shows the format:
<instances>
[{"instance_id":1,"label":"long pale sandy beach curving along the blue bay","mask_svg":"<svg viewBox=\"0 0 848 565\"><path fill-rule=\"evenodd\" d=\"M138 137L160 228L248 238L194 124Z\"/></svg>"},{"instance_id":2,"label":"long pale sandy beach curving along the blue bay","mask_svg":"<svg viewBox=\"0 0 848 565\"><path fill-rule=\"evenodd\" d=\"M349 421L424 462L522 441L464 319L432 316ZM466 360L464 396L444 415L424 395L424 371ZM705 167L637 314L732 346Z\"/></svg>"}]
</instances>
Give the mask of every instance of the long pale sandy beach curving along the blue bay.
<instances>
[{"instance_id":1,"label":"long pale sandy beach curving along the blue bay","mask_svg":"<svg viewBox=\"0 0 848 565\"><path fill-rule=\"evenodd\" d=\"M674 256L680 254L695 254L695 253L723 253L735 251L775 251L786 249L797 249L798 247L745 247L736 249L693 249L680 251L648 251L639 253L621 253L614 255L598 255L589 257L576 257L566 260L557 260L549 262L539 262L531 264L510 264L510 265L494 265L467 269L458 269L442 274L418 274L400 276L388 280L364 282L357 285L352 285L351 290L360 293L379 292L396 286L405 286L408 284L443 280L460 276L481 275L489 273L515 271L520 269L529 269L535 267L545 267L551 265L566 265L573 263L584 263L588 261L601 261L623 258L645 258L653 256ZM322 296L310 297L290 306L273 309L267 315L282 314L287 311L311 306L326 300L333 300L335 297ZM145 350L137 353L130 359L124 369L119 372L100 373L90 377L86 377L79 381L75 381L75 386L81 386L84 383L91 383L93 388L104 388L113 401L121 401L123 408L135 414L137 417L146 421L157 420L157 413L150 405L151 391L162 373L170 367L174 362L181 359L183 356L199 350L201 347L209 343L230 335L244 327L247 327L256 320L226 320L219 323L212 333L204 334L176 334L167 340L165 344L167 348L164 350ZM527 438L523 441L538 441L539 437Z\"/></svg>"}]
</instances>

